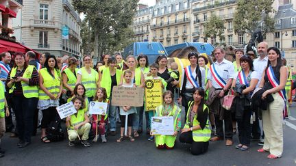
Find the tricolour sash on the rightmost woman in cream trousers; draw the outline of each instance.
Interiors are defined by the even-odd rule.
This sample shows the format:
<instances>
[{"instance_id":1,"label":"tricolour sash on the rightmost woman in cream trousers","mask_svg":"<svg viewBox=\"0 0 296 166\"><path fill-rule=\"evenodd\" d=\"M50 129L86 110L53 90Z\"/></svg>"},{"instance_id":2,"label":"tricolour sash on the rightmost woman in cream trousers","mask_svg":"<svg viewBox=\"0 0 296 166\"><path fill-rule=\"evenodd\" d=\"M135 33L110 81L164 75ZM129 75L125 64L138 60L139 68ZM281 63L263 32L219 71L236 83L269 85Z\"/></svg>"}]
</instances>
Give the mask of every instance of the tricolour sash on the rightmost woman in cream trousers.
<instances>
[{"instance_id":1,"label":"tricolour sash on the rightmost woman in cream trousers","mask_svg":"<svg viewBox=\"0 0 296 166\"><path fill-rule=\"evenodd\" d=\"M269 68L267 68L267 77L273 87L277 87L280 85L280 81L275 77L275 74L273 72L273 68L271 66L269 66ZM285 89L280 90L278 93L284 99L284 102L286 103ZM285 104L285 109L283 110L283 116L286 117L286 115L288 115L288 111L287 111L286 104Z\"/></svg>"}]
</instances>

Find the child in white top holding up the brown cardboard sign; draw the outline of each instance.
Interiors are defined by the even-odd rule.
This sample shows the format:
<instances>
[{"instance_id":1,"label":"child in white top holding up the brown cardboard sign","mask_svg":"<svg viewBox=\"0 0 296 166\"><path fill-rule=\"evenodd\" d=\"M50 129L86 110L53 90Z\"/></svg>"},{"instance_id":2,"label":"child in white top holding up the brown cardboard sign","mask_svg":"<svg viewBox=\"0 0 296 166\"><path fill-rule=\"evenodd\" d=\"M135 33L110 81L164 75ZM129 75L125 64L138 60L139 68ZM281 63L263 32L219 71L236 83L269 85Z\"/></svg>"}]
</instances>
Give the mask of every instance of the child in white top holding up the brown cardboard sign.
<instances>
[{"instance_id":1,"label":"child in white top holding up the brown cardboard sign","mask_svg":"<svg viewBox=\"0 0 296 166\"><path fill-rule=\"evenodd\" d=\"M134 83L132 83L132 72L130 70L125 70L125 72L123 72L123 79L123 87L134 87ZM128 139L130 139L130 141L134 141L134 138L132 137L132 120L134 113L136 113L136 107L120 107L119 113L121 120L121 137L117 139L117 142L121 142L125 139L123 133L126 133L126 130L128 130Z\"/></svg>"}]
</instances>

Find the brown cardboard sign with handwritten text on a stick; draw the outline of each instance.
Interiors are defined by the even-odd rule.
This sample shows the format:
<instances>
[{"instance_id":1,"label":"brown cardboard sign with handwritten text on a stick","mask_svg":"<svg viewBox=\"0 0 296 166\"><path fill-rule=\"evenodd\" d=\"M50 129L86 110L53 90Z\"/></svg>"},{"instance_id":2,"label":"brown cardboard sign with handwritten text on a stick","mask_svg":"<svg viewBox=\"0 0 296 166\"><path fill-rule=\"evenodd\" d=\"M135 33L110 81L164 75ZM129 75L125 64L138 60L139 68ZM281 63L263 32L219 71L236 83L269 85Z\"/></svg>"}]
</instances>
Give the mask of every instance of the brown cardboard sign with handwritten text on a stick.
<instances>
[{"instance_id":1,"label":"brown cardboard sign with handwritten text on a stick","mask_svg":"<svg viewBox=\"0 0 296 166\"><path fill-rule=\"evenodd\" d=\"M114 86L112 90L112 105L142 107L143 97L143 87Z\"/></svg>"}]
</instances>

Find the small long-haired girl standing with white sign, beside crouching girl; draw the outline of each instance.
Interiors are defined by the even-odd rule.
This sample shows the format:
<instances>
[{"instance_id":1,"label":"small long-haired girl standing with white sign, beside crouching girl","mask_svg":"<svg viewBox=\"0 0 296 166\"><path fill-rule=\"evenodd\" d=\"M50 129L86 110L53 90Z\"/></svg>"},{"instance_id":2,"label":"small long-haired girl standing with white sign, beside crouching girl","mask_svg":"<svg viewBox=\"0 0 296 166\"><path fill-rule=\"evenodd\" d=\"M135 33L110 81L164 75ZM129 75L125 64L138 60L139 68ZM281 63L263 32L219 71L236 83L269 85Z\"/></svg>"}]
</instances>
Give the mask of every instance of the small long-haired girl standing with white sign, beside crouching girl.
<instances>
[{"instance_id":1,"label":"small long-haired girl standing with white sign, beside crouching girl","mask_svg":"<svg viewBox=\"0 0 296 166\"><path fill-rule=\"evenodd\" d=\"M107 92L106 89L103 87L99 87L97 89L97 95L94 98L95 102L109 102L107 99ZM93 142L97 141L99 135L97 135L97 130L99 130L99 134L101 135L102 142L107 142L105 136L105 126L108 123L107 115L93 115L93 132L95 134L95 138Z\"/></svg>"}]
</instances>

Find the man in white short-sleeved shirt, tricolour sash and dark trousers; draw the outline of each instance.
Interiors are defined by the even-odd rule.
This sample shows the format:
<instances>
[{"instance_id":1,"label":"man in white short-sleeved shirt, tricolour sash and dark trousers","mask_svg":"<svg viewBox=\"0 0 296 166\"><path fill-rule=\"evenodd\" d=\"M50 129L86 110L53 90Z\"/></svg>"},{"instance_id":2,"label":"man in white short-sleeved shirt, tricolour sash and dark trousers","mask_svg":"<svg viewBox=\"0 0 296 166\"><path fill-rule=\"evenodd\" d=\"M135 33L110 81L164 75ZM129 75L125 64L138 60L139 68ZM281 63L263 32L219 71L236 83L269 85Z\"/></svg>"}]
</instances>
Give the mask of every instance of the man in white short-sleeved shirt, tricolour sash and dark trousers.
<instances>
[{"instance_id":1,"label":"man in white short-sleeved shirt, tricolour sash and dark trousers","mask_svg":"<svg viewBox=\"0 0 296 166\"><path fill-rule=\"evenodd\" d=\"M226 139L226 146L232 146L232 115L231 111L225 111L221 107L221 98L223 98L234 79L234 66L232 62L224 59L225 51L217 47L214 49L214 56L217 61L210 66L210 72L208 72L208 83L210 85L209 98L212 98L212 94L216 96L209 105L210 111L214 113L217 137L212 137L211 141L223 140L224 136ZM223 120L225 126L225 133L223 132Z\"/></svg>"}]
</instances>

